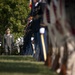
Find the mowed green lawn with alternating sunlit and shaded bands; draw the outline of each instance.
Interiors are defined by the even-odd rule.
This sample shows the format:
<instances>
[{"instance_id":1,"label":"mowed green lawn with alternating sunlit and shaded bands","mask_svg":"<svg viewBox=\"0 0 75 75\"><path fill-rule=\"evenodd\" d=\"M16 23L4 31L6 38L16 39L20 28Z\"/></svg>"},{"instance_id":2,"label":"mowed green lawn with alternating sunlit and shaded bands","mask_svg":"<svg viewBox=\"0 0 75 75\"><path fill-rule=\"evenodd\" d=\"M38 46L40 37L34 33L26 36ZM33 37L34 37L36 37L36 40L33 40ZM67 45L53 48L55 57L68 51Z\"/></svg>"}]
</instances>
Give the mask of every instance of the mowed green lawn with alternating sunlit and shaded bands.
<instances>
[{"instance_id":1,"label":"mowed green lawn with alternating sunlit and shaded bands","mask_svg":"<svg viewBox=\"0 0 75 75\"><path fill-rule=\"evenodd\" d=\"M0 75L57 75L32 56L0 56Z\"/></svg>"}]
</instances>

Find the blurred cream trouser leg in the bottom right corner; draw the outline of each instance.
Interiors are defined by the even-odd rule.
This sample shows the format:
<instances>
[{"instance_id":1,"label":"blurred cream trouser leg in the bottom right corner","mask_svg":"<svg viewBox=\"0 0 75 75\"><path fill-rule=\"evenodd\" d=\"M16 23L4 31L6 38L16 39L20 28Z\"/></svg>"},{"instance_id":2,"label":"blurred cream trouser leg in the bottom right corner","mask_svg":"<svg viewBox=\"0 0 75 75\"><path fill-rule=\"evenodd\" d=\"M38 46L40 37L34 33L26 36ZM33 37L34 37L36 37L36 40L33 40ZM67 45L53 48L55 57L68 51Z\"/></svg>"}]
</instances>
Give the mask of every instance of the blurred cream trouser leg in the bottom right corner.
<instances>
[{"instance_id":1,"label":"blurred cream trouser leg in the bottom right corner","mask_svg":"<svg viewBox=\"0 0 75 75\"><path fill-rule=\"evenodd\" d=\"M75 46L74 41L72 43L68 43L70 52L68 53L67 75L75 75L75 50L73 46Z\"/></svg>"}]
</instances>

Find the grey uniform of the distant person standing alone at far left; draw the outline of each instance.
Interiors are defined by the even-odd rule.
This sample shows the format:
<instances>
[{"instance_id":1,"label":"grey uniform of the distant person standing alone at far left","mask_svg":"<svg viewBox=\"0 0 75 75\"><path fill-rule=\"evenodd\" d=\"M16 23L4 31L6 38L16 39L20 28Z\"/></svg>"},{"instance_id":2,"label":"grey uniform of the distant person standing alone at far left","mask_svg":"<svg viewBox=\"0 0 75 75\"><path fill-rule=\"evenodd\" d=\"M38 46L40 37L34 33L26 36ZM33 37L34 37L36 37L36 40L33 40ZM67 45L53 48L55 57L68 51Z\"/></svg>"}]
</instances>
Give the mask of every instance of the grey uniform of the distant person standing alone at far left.
<instances>
[{"instance_id":1,"label":"grey uniform of the distant person standing alone at far left","mask_svg":"<svg viewBox=\"0 0 75 75\"><path fill-rule=\"evenodd\" d=\"M14 44L14 38L12 34L4 34L3 46L5 48L5 54L11 54Z\"/></svg>"}]
</instances>

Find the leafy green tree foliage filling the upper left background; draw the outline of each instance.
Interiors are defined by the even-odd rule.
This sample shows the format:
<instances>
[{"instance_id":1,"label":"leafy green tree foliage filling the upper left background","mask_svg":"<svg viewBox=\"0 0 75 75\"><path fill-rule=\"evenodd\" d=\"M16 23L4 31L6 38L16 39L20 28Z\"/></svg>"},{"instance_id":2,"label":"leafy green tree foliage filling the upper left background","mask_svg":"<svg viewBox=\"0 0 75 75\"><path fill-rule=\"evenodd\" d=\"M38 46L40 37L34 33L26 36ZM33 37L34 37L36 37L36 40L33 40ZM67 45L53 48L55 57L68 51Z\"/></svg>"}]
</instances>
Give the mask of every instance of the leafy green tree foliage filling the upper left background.
<instances>
[{"instance_id":1,"label":"leafy green tree foliage filling the upper left background","mask_svg":"<svg viewBox=\"0 0 75 75\"><path fill-rule=\"evenodd\" d=\"M29 0L0 0L1 34L9 27L15 38L23 35L25 19L29 13Z\"/></svg>"}]
</instances>

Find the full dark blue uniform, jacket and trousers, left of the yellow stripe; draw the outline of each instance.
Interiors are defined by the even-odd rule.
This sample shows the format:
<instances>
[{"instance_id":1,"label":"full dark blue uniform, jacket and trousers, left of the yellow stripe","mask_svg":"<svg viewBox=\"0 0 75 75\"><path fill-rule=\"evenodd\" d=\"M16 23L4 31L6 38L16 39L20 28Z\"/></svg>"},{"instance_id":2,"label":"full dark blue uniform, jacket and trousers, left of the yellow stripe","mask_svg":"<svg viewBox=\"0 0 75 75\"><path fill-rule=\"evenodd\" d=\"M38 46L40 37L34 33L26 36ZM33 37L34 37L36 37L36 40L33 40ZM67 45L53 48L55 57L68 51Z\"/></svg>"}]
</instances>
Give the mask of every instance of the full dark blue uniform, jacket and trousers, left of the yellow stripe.
<instances>
[{"instance_id":1,"label":"full dark blue uniform, jacket and trousers, left of the yellow stripe","mask_svg":"<svg viewBox=\"0 0 75 75\"><path fill-rule=\"evenodd\" d=\"M42 16L43 16L43 10L42 10L42 3L36 2L32 9L33 22L32 22L32 32L34 34L34 44L35 44L35 58L36 60L43 60L43 54L42 54L42 44L41 44L41 38L40 38L40 32L39 29L41 27L42 23Z\"/></svg>"}]
</instances>

